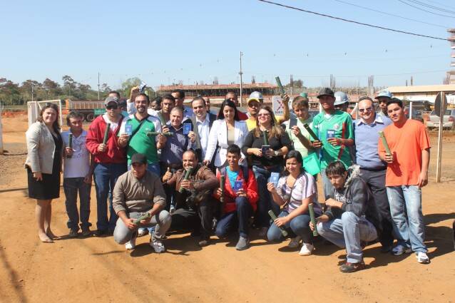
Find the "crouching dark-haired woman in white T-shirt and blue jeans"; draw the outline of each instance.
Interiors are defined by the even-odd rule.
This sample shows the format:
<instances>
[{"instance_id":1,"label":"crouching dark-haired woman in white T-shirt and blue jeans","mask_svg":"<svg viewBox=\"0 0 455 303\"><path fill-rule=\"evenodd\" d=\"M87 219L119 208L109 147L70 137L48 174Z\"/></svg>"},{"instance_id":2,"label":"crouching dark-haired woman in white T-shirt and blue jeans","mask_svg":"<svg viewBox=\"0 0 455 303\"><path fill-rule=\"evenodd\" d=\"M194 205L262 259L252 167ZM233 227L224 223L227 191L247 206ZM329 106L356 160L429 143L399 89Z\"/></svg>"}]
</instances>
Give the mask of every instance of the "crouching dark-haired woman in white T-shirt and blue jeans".
<instances>
[{"instance_id":1,"label":"crouching dark-haired woman in white T-shirt and blue jeans","mask_svg":"<svg viewBox=\"0 0 455 303\"><path fill-rule=\"evenodd\" d=\"M313 246L312 234L309 227L310 213L308 205L313 203L315 214L318 217L322 208L317 202L316 182L312 175L302 168L302 155L297 150L291 150L285 157L286 166L284 176L274 183L267 183L267 190L272 194L273 201L282 206L282 211L272 223L267 239L270 242L281 242L284 237L279 227L292 231L294 237L289 247L296 248L303 240L301 256L311 255Z\"/></svg>"}]
</instances>

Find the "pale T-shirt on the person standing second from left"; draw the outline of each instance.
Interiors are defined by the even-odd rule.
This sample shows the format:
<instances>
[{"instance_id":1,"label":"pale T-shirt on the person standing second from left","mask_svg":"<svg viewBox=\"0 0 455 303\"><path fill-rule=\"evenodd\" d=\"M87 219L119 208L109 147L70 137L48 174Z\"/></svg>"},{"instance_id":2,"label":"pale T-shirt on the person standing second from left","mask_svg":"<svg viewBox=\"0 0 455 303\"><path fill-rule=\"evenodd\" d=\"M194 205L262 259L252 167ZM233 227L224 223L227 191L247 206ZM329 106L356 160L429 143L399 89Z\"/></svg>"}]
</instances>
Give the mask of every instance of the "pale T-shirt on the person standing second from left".
<instances>
[{"instance_id":1,"label":"pale T-shirt on the person standing second from left","mask_svg":"<svg viewBox=\"0 0 455 303\"><path fill-rule=\"evenodd\" d=\"M61 133L65 147L68 146L70 133L71 130ZM78 137L73 135L73 142L71 143L73 155L71 158L63 156L63 178L83 178L88 174L90 170L90 155L86 148L86 138L86 130L82 130L81 135Z\"/></svg>"}]
</instances>

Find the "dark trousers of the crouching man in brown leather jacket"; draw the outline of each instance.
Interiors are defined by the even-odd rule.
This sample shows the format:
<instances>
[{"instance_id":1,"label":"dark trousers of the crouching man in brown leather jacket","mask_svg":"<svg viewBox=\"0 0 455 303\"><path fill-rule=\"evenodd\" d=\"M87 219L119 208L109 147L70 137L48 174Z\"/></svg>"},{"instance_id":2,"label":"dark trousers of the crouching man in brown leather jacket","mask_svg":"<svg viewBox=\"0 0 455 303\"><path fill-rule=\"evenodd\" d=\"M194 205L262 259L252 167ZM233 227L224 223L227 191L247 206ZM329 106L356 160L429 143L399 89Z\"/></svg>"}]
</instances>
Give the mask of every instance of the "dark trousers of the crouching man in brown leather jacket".
<instances>
[{"instance_id":1,"label":"dark trousers of the crouching man in brown leather jacket","mask_svg":"<svg viewBox=\"0 0 455 303\"><path fill-rule=\"evenodd\" d=\"M203 238L210 237L212 233L213 220L213 201L210 197L205 198L198 205L188 207L185 199L186 195L175 192L177 206L180 207L172 215L171 230L191 230L197 232L200 230L200 236Z\"/></svg>"}]
</instances>

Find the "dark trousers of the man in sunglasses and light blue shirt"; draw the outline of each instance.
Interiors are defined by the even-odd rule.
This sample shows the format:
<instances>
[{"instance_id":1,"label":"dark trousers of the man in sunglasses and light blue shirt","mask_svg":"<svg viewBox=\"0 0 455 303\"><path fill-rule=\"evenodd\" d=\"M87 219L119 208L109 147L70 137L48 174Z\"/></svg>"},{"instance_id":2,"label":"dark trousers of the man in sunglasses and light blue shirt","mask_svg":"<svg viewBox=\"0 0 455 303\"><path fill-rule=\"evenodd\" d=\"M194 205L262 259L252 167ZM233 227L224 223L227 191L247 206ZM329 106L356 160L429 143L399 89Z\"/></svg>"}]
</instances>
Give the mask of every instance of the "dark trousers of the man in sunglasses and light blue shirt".
<instances>
[{"instance_id":1,"label":"dark trousers of the man in sunglasses and light blue shirt","mask_svg":"<svg viewBox=\"0 0 455 303\"><path fill-rule=\"evenodd\" d=\"M376 202L381 215L382 234L379 241L382 246L392 246L394 242L392 215L390 215L390 205L387 199L386 190L386 170L372 171L360 169L360 177L367 183L369 189L372 190L374 202Z\"/></svg>"}]
</instances>

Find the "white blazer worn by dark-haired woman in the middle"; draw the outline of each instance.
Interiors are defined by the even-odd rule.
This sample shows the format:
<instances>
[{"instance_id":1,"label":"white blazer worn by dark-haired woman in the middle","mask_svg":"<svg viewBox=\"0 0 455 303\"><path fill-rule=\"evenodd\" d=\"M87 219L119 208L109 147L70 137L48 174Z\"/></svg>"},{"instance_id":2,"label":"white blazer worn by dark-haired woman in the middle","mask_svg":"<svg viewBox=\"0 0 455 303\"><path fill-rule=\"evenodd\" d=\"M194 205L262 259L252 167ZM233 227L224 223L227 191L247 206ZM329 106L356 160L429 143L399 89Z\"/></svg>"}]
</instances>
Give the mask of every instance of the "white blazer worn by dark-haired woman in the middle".
<instances>
[{"instance_id":1,"label":"white blazer worn by dark-haired woman in the middle","mask_svg":"<svg viewBox=\"0 0 455 303\"><path fill-rule=\"evenodd\" d=\"M245 121L235 121L234 129L234 144L238 145L239 148L242 148L245 138L247 138L248 135L247 123L245 123ZM225 163L227 154L227 125L225 119L213 121L212 128L210 128L210 133L208 135L208 147L205 152L204 160L212 160L217 145L219 146L219 149L215 155L213 165L215 165L215 167L220 167ZM242 154L242 158L245 158L245 155Z\"/></svg>"}]
</instances>

